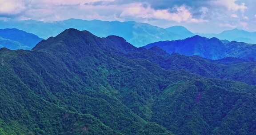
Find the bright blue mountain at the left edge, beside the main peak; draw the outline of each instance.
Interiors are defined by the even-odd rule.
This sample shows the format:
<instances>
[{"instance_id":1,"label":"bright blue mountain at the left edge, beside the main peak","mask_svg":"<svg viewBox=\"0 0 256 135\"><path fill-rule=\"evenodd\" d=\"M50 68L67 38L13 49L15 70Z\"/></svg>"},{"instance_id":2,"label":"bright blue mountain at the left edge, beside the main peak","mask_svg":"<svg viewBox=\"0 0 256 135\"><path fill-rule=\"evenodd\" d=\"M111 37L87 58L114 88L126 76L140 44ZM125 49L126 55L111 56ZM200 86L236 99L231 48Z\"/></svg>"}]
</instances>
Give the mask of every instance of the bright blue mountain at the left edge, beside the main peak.
<instances>
[{"instance_id":1,"label":"bright blue mountain at the left edge, beside the main peak","mask_svg":"<svg viewBox=\"0 0 256 135\"><path fill-rule=\"evenodd\" d=\"M0 48L30 50L42 39L16 28L0 29Z\"/></svg>"}]
</instances>

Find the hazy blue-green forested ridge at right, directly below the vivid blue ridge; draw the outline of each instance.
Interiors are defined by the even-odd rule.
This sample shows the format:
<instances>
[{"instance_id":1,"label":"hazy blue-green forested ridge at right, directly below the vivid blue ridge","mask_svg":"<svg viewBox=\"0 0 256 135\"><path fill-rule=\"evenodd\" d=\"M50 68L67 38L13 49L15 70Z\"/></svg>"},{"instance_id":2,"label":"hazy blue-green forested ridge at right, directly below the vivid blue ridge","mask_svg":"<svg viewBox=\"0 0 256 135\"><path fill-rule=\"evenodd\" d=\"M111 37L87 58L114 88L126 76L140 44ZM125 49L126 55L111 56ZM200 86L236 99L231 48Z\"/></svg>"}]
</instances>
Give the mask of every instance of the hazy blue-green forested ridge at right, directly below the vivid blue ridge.
<instances>
[{"instance_id":1,"label":"hazy blue-green forested ridge at right, directly below the vivid blue ridge","mask_svg":"<svg viewBox=\"0 0 256 135\"><path fill-rule=\"evenodd\" d=\"M172 54L161 67L168 70L184 70L207 78L240 81L256 85L256 62L237 58L208 60L199 56Z\"/></svg>"}]
</instances>

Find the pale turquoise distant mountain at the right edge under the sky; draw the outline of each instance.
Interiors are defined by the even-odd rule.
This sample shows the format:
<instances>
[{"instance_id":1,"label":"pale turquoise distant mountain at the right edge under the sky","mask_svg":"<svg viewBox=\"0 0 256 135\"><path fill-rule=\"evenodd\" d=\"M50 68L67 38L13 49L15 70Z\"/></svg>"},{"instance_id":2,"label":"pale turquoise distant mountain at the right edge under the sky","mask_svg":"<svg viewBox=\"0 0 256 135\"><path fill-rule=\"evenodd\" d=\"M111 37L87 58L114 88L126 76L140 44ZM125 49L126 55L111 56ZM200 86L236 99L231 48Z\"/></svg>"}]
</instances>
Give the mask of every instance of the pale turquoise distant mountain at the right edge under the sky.
<instances>
[{"instance_id":1,"label":"pale turquoise distant mountain at the right edge under the sky","mask_svg":"<svg viewBox=\"0 0 256 135\"><path fill-rule=\"evenodd\" d=\"M208 38L216 37L221 40L230 40L237 42L245 42L249 44L256 44L256 32L247 32L240 29L232 29L221 32L220 34L198 34Z\"/></svg>"}]
</instances>

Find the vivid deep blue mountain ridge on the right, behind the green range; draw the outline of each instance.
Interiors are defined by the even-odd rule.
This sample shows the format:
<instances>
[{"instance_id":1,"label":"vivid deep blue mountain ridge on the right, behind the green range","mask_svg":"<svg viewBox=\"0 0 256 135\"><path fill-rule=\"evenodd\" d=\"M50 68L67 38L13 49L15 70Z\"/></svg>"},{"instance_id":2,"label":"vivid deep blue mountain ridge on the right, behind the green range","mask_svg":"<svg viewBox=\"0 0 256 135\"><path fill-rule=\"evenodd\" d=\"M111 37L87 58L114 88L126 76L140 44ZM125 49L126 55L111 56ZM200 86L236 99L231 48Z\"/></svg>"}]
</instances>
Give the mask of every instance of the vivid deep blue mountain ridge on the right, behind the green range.
<instances>
[{"instance_id":1,"label":"vivid deep blue mountain ridge on the right, behind the green range","mask_svg":"<svg viewBox=\"0 0 256 135\"><path fill-rule=\"evenodd\" d=\"M179 53L186 56L201 56L207 59L218 60L225 57L242 59L256 58L256 45L243 42L208 39L193 36L185 40L160 41L144 46L144 48L159 47L169 54Z\"/></svg>"}]
</instances>

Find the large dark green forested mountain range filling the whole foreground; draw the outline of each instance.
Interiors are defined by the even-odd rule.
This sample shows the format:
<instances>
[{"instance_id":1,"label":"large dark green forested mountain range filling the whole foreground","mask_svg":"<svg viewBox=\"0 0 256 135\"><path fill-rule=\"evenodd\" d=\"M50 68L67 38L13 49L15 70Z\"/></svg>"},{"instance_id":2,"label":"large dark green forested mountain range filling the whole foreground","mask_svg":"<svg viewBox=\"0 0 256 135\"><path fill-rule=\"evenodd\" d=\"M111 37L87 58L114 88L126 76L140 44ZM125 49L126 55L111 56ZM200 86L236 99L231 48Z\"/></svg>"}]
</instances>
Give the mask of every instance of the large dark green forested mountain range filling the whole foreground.
<instances>
[{"instance_id":1,"label":"large dark green forested mountain range filling the whole foreground","mask_svg":"<svg viewBox=\"0 0 256 135\"><path fill-rule=\"evenodd\" d=\"M255 81L239 79L255 74L253 61L170 55L67 29L32 51L1 48L0 67L1 134L255 133Z\"/></svg>"}]
</instances>

